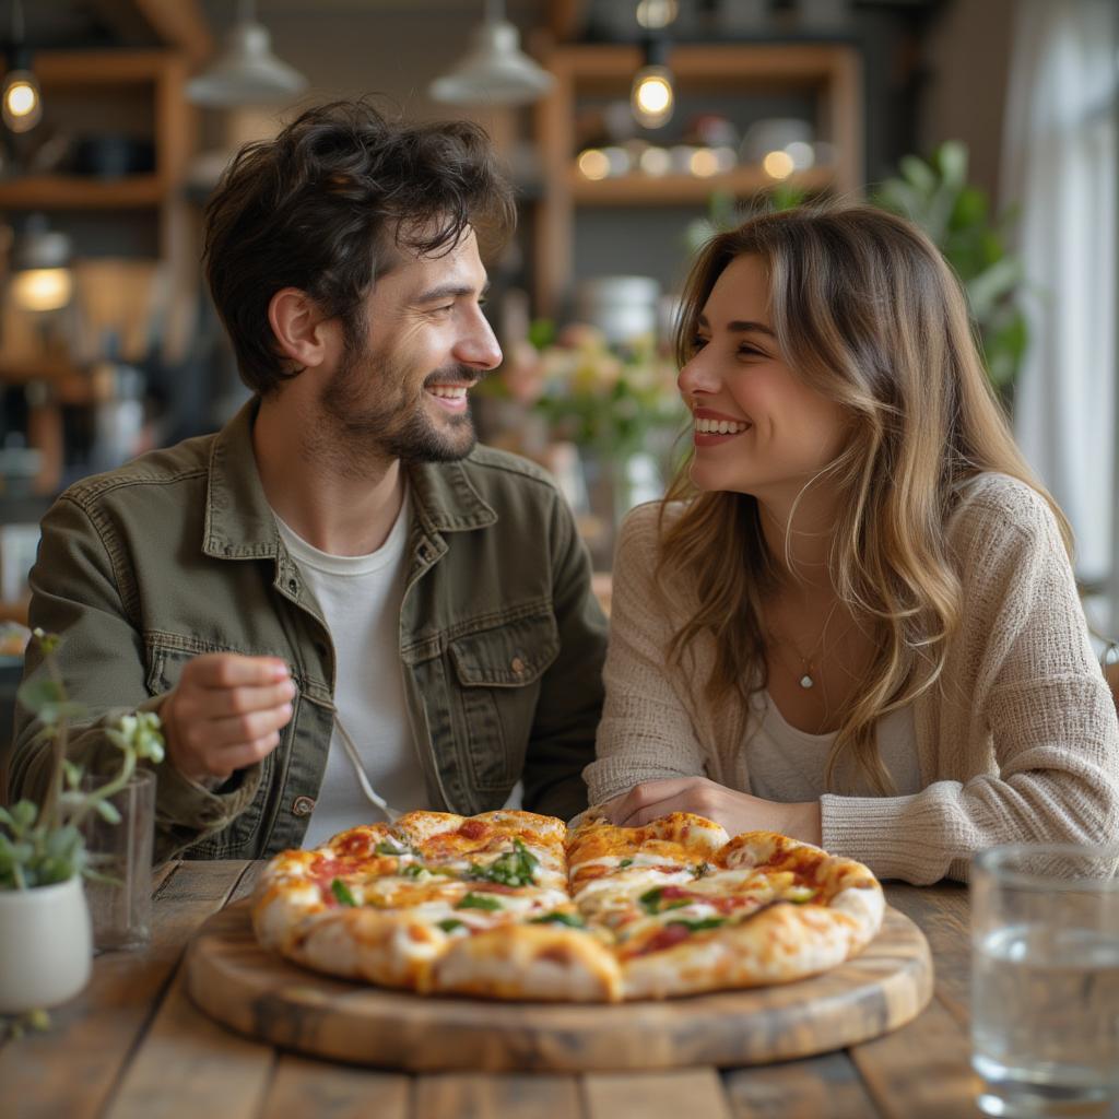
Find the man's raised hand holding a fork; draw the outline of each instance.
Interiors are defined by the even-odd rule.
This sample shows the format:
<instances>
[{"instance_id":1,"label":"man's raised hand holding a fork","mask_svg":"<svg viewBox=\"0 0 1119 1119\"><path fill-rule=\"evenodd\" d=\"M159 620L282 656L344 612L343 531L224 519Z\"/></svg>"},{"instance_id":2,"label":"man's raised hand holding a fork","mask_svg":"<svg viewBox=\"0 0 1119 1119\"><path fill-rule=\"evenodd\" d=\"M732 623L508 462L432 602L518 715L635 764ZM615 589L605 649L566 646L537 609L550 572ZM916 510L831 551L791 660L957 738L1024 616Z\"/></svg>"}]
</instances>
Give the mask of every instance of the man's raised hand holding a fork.
<instances>
[{"instance_id":1,"label":"man's raised hand holding a fork","mask_svg":"<svg viewBox=\"0 0 1119 1119\"><path fill-rule=\"evenodd\" d=\"M167 756L194 781L224 781L275 750L294 695L288 666L274 657L195 657L159 712Z\"/></svg>"}]
</instances>

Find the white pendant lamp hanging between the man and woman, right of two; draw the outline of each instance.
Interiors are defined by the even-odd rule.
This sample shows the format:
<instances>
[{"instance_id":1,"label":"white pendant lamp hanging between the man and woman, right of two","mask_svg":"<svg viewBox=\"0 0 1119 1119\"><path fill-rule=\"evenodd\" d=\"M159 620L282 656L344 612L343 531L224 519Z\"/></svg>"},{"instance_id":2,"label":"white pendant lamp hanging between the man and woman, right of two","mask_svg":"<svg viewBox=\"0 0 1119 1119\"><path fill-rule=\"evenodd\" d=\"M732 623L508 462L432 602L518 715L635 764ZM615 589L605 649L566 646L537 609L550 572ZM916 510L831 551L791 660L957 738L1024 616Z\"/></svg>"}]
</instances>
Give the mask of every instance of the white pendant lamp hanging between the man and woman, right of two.
<instances>
[{"instance_id":1,"label":"white pendant lamp hanging between the man and woman, right of two","mask_svg":"<svg viewBox=\"0 0 1119 1119\"><path fill-rule=\"evenodd\" d=\"M452 105L527 105L555 78L520 49L520 34L505 18L504 0L486 0L486 18L473 44L449 73L427 87L433 101Z\"/></svg>"}]
</instances>

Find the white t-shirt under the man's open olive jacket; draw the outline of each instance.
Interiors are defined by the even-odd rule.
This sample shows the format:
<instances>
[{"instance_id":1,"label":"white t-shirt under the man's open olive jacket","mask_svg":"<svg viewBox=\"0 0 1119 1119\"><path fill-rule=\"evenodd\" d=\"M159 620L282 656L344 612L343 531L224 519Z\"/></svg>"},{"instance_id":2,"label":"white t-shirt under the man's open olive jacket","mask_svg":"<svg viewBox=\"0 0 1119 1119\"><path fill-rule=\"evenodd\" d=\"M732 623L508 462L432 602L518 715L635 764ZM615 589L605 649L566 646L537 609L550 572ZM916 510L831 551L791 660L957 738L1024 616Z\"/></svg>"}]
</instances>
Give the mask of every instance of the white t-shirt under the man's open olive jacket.
<instances>
[{"instance_id":1,"label":"white t-shirt under the man's open olive jacket","mask_svg":"<svg viewBox=\"0 0 1119 1119\"><path fill-rule=\"evenodd\" d=\"M330 630L338 717L357 746L369 784L399 811L430 807L408 730L399 657L407 507L405 496L388 538L364 556L320 552L276 517L280 536ZM316 847L356 824L385 818L363 791L336 725L303 846Z\"/></svg>"}]
</instances>

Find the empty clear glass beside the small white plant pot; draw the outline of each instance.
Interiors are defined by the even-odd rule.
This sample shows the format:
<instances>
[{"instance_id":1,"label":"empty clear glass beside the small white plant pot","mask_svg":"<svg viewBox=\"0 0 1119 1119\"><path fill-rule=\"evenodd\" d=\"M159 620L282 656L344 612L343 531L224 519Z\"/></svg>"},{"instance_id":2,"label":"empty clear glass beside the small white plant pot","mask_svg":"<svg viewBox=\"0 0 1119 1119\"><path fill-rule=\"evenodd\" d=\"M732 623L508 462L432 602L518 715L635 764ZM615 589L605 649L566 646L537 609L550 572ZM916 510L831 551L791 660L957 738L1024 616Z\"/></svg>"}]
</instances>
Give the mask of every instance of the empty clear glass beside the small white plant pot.
<instances>
[{"instance_id":1,"label":"empty clear glass beside the small white plant pot","mask_svg":"<svg viewBox=\"0 0 1119 1119\"><path fill-rule=\"evenodd\" d=\"M104 778L86 775L83 787L96 788ZM151 859L156 835L156 774L137 770L109 798L120 812L110 824L91 812L82 824L88 866L94 877L85 884L97 951L143 948L151 939Z\"/></svg>"}]
</instances>

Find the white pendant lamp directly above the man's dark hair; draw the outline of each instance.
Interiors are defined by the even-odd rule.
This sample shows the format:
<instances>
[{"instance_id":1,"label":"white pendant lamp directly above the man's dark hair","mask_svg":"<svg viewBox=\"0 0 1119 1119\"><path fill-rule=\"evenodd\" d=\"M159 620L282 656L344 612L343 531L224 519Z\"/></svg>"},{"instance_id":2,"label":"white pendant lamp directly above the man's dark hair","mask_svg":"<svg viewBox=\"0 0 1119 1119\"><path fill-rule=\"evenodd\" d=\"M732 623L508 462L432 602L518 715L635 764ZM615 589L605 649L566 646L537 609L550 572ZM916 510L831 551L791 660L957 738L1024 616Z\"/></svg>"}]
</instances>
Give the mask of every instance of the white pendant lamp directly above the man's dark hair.
<instances>
[{"instance_id":1,"label":"white pendant lamp directly above the man's dark hair","mask_svg":"<svg viewBox=\"0 0 1119 1119\"><path fill-rule=\"evenodd\" d=\"M269 105L307 88L307 78L272 54L272 36L256 21L255 8L253 0L239 0L224 50L187 83L188 101L207 109Z\"/></svg>"}]
</instances>

